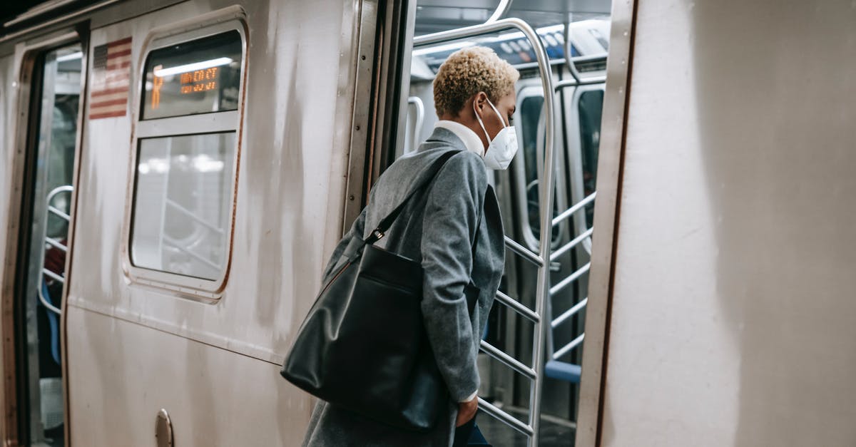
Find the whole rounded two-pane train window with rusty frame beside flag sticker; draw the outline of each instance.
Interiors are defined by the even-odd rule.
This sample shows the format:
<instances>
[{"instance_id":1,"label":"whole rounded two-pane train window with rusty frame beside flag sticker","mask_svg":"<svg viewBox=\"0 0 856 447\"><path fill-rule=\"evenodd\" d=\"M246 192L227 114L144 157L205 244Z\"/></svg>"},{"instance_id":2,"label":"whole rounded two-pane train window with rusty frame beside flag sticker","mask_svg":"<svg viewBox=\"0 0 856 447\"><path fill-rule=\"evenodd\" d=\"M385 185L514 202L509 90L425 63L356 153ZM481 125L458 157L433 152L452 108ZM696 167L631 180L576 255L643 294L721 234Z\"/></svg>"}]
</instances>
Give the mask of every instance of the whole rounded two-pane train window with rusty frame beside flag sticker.
<instances>
[{"instance_id":1,"label":"whole rounded two-pane train window with rusty frame beside flag sticker","mask_svg":"<svg viewBox=\"0 0 856 447\"><path fill-rule=\"evenodd\" d=\"M231 247L246 39L222 23L150 48L134 135L129 271L140 283L216 297Z\"/></svg>"}]
</instances>

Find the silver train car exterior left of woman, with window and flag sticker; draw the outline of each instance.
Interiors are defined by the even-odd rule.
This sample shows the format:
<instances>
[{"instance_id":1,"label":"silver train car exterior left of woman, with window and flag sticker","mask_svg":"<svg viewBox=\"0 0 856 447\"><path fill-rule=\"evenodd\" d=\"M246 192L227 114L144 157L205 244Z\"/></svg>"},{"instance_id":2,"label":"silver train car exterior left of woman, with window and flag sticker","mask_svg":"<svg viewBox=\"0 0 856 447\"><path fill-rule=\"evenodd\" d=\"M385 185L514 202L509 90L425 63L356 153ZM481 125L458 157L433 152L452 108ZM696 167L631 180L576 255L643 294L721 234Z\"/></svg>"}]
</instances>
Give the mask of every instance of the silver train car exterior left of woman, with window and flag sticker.
<instances>
[{"instance_id":1,"label":"silver train car exterior left of woman, with window and flag sticker","mask_svg":"<svg viewBox=\"0 0 856 447\"><path fill-rule=\"evenodd\" d=\"M164 408L175 444L293 445L312 400L282 380L277 365L317 292L324 256L342 234L350 146L360 134L365 145L369 128L367 110L354 104L371 103L371 78L360 77L369 85L358 87L364 76L358 72L375 71L383 20L406 17L394 20L399 6L371 1L113 3L3 42L4 299L14 293L15 210L22 203L15 192L27 163L21 158L29 109L21 99L28 96L25 72L42 63L40 51L80 43L84 125L69 236L73 268L66 271L62 303L68 443L152 444ZM226 44L205 44L223 33ZM177 51L192 54L194 43L212 54L229 46L218 57L234 66L235 104L221 100L226 111L199 119L163 87L164 113L152 112L158 119L148 121L147 58L181 45ZM105 104L110 101L99 99L102 94L115 103ZM113 99L122 95L125 101ZM185 134L195 136L181 141ZM217 137L205 136L211 134ZM198 171L205 164L210 174L166 190L169 176L158 172L182 169L170 166L171 158L163 166L158 154L167 146L185 151ZM205 204L193 194L207 194L199 198ZM166 200L199 206L181 224L215 234L199 237L216 241L218 253L193 246L190 229L164 229L163 215L158 228L152 214L163 214ZM209 218L216 228L205 225ZM177 235L187 241L168 246ZM152 243L160 243L158 254L177 248L185 255L157 264ZM3 330L12 328L4 321ZM4 369L3 434L38 442L38 429L18 432L19 418L27 415L9 407L10 394L26 398L14 372ZM29 418L33 426L38 416Z\"/></svg>"}]
</instances>

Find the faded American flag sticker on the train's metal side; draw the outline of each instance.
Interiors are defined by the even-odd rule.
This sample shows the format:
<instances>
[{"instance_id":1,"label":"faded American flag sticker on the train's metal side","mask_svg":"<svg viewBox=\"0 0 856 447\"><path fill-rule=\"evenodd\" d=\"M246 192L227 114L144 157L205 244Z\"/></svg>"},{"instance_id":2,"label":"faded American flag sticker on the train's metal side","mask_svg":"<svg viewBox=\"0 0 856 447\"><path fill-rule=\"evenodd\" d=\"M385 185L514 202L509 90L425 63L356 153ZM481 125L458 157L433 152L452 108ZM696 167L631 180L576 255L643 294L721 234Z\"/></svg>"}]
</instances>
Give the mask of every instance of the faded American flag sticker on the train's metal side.
<instances>
[{"instance_id":1,"label":"faded American flag sticker on the train's metal side","mask_svg":"<svg viewBox=\"0 0 856 447\"><path fill-rule=\"evenodd\" d=\"M131 38L93 48L89 119L125 116L130 85Z\"/></svg>"}]
</instances>

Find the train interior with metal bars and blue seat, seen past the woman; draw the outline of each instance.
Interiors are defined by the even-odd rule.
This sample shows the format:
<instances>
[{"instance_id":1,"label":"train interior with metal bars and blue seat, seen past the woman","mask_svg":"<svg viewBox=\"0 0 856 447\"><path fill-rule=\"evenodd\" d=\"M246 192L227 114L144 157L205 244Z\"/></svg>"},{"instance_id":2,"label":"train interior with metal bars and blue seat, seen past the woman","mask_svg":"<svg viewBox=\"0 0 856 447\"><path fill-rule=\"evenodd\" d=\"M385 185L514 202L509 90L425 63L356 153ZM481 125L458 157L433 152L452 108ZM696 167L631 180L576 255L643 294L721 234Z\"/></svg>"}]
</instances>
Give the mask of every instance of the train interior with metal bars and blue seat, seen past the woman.
<instances>
[{"instance_id":1,"label":"train interior with metal bars and blue seat, seen past the woman","mask_svg":"<svg viewBox=\"0 0 856 447\"><path fill-rule=\"evenodd\" d=\"M541 234L540 188L546 143L544 81L536 62L536 48L526 35L506 29L467 35L458 39L419 37L472 27L487 20L496 2L483 8L450 6L440 0L421 0L416 10L404 141L396 155L415 150L437 122L432 81L446 57L469 45L490 47L520 71L516 86L519 152L506 171L492 171L492 182L502 207L508 238L538 253ZM501 5L500 5L501 6ZM575 6L575 7L574 7ZM564 8L568 7L568 8ZM571 8L574 7L574 8ZM549 322L544 352L544 382L540 409L540 445L571 445L579 396L582 342L585 334L586 290L591 256L592 212L596 191L597 148L609 51L609 2L512 3L504 17L525 21L538 34L549 57L556 113L553 228L550 242ZM570 54L570 57L566 55ZM535 265L519 250L507 250L500 288L528 308L535 307ZM479 353L482 386L479 396L526 424L531 404L532 379L525 367L532 364L534 325L525 310L496 300ZM487 343L487 347L485 347ZM494 349L491 349L494 348ZM501 351L496 353L496 350ZM496 353L490 355L489 352ZM502 354L512 360L501 361ZM519 363L514 363L518 361ZM514 367L514 366L518 367ZM510 423L509 423L510 422ZM515 430L514 420L482 415L479 426L494 445L526 444L526 433Z\"/></svg>"}]
</instances>

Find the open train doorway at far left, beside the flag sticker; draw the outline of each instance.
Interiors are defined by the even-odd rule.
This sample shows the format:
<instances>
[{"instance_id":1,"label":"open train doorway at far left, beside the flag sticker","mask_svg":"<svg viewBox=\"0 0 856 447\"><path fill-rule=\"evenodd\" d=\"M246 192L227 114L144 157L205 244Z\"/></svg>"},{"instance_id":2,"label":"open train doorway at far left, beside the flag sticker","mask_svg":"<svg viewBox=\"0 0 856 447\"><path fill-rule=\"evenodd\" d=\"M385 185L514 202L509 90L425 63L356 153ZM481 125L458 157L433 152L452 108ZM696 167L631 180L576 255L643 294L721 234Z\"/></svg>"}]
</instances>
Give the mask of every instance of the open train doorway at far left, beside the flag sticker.
<instances>
[{"instance_id":1,"label":"open train doorway at far left, beside the flag sticker","mask_svg":"<svg viewBox=\"0 0 856 447\"><path fill-rule=\"evenodd\" d=\"M62 303L86 86L82 33L15 49L20 111L3 265L3 442L65 444Z\"/></svg>"}]
</instances>

